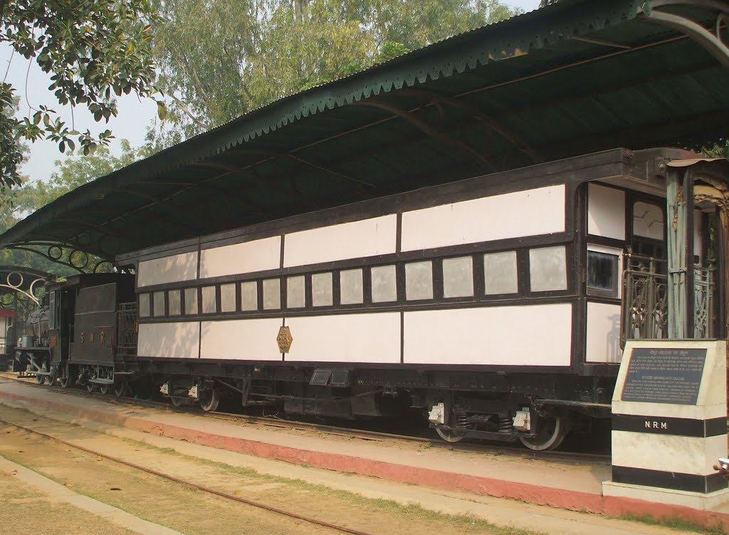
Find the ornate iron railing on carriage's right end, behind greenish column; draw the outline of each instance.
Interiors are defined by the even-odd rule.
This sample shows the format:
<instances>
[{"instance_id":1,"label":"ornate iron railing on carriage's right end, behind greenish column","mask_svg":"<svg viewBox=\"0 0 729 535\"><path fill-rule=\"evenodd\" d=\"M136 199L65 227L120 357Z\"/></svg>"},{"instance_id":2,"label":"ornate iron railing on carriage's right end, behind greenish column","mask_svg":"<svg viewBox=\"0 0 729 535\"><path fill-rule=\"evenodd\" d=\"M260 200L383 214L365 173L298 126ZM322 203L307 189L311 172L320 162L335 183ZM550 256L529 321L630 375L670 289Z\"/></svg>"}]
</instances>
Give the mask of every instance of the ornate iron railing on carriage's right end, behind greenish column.
<instances>
[{"instance_id":1,"label":"ornate iron railing on carriage's right end, behind greenish column","mask_svg":"<svg viewBox=\"0 0 729 535\"><path fill-rule=\"evenodd\" d=\"M630 339L668 337L666 261L625 255L620 345ZM714 273L712 266L694 266L694 338L714 335Z\"/></svg>"}]
</instances>

